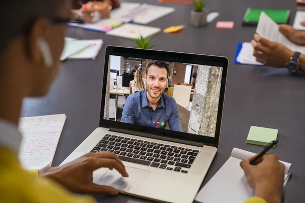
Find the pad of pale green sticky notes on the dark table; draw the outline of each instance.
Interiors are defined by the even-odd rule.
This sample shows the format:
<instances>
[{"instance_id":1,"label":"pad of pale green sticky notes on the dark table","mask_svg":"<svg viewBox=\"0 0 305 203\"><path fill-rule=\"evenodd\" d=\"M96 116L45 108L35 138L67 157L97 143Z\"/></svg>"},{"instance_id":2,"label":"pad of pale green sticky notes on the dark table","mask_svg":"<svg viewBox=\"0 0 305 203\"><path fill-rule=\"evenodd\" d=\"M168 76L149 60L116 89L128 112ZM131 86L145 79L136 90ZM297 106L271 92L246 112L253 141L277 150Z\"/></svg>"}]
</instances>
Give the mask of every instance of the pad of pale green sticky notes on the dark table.
<instances>
[{"instance_id":1,"label":"pad of pale green sticky notes on the dark table","mask_svg":"<svg viewBox=\"0 0 305 203\"><path fill-rule=\"evenodd\" d=\"M251 126L247 143L266 146L269 142L277 140L277 129Z\"/></svg>"}]
</instances>

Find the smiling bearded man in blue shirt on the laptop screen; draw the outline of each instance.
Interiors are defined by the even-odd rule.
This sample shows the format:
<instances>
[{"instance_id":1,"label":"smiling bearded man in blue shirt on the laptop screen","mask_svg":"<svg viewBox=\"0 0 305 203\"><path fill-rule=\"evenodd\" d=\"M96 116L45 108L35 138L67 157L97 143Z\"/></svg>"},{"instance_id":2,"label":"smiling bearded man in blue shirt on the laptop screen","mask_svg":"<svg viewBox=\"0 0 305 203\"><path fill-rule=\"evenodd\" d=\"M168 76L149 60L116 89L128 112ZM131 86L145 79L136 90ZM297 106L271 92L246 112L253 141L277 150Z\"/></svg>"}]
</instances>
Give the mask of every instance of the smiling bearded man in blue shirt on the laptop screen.
<instances>
[{"instance_id":1,"label":"smiling bearded man in blue shirt on the laptop screen","mask_svg":"<svg viewBox=\"0 0 305 203\"><path fill-rule=\"evenodd\" d=\"M121 122L181 131L179 112L173 97L164 94L169 67L165 61L151 60L145 74L146 90L128 96Z\"/></svg>"}]
</instances>

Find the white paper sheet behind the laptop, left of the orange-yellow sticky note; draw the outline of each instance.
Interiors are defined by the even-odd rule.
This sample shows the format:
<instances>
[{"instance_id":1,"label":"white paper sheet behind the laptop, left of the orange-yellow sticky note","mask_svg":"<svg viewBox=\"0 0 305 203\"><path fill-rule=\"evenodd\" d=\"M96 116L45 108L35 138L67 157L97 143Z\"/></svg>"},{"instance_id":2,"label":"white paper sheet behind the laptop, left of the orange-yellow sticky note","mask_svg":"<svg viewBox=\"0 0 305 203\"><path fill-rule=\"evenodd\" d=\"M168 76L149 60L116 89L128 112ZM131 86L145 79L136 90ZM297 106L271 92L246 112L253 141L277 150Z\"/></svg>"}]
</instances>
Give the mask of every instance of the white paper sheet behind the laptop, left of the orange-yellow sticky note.
<instances>
[{"instance_id":1,"label":"white paper sheet behind the laptop, left of the orange-yellow sticky note","mask_svg":"<svg viewBox=\"0 0 305 203\"><path fill-rule=\"evenodd\" d=\"M127 23L107 32L107 35L135 39L135 38L139 38L140 35L143 36L143 38L154 35L160 30L161 29L158 27L148 27L144 25Z\"/></svg>"}]
</instances>

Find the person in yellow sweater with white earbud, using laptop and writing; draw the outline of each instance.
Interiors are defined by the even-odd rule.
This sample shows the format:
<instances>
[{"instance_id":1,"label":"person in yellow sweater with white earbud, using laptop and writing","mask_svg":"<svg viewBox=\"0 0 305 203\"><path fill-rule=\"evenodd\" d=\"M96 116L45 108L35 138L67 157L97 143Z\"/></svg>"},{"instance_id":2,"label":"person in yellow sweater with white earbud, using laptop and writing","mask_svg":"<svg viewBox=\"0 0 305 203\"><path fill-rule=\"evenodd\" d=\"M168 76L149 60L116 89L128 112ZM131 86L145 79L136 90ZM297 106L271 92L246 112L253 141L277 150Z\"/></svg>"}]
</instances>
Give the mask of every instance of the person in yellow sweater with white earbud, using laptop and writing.
<instances>
[{"instance_id":1,"label":"person in yellow sweater with white earbud, using laptop and writing","mask_svg":"<svg viewBox=\"0 0 305 203\"><path fill-rule=\"evenodd\" d=\"M0 202L93 203L93 197L75 193L107 193L115 188L93 183L101 167L128 177L124 164L110 152L88 153L58 167L24 171L18 160L21 134L17 129L22 99L44 96L59 71L69 0L4 1L0 17ZM8 12L9 11L9 12ZM280 202L284 166L277 156L265 155L256 165L242 161L255 203Z\"/></svg>"}]
</instances>

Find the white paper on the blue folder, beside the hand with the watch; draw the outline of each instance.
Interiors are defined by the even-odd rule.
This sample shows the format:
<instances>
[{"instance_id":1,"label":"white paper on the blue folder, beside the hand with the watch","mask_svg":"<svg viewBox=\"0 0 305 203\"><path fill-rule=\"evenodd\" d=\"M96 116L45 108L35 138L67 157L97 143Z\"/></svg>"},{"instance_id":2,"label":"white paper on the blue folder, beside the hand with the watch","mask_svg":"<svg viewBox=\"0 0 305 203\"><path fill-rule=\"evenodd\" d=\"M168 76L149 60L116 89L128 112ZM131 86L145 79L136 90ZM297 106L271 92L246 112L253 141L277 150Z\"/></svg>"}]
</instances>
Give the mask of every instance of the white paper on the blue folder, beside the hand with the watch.
<instances>
[{"instance_id":1,"label":"white paper on the blue folder, beside the hand with the watch","mask_svg":"<svg viewBox=\"0 0 305 203\"><path fill-rule=\"evenodd\" d=\"M242 64L264 65L263 63L256 61L256 57L253 56L253 51L254 49L250 42L242 43L241 50L236 60Z\"/></svg>"}]
</instances>

